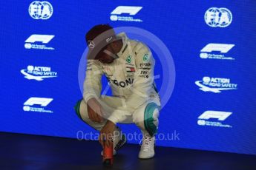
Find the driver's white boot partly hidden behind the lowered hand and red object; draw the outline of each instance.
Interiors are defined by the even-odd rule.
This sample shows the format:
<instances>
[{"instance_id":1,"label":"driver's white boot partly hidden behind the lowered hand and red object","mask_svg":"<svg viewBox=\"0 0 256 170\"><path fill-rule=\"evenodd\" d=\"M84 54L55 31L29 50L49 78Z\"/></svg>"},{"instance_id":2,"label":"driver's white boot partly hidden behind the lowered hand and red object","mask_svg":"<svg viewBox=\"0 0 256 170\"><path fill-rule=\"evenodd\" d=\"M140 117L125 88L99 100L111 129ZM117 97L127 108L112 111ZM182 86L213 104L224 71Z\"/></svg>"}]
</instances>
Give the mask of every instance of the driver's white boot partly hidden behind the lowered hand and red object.
<instances>
[{"instance_id":1,"label":"driver's white boot partly hidden behind the lowered hand and red object","mask_svg":"<svg viewBox=\"0 0 256 170\"><path fill-rule=\"evenodd\" d=\"M122 135L122 131L119 129L119 127L116 127L113 137L113 155L116 155L116 151L120 149L125 143L125 135ZM103 151L101 152L101 155L103 156Z\"/></svg>"}]
</instances>

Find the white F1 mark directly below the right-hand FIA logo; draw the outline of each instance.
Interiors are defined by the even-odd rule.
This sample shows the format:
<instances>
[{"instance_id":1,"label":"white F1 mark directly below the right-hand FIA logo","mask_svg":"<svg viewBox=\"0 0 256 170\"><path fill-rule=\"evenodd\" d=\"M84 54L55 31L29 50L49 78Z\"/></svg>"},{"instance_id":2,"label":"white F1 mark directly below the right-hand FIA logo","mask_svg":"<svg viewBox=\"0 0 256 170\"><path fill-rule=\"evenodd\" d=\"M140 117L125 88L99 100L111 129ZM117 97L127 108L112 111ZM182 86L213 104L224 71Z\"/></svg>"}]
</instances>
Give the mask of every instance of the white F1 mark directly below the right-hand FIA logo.
<instances>
[{"instance_id":1,"label":"white F1 mark directly below the right-hand FIA logo","mask_svg":"<svg viewBox=\"0 0 256 170\"><path fill-rule=\"evenodd\" d=\"M201 52L213 52L213 51L219 51L222 53L229 52L234 47L234 44L214 44L210 43L207 44L206 47L203 47Z\"/></svg>"}]
</instances>

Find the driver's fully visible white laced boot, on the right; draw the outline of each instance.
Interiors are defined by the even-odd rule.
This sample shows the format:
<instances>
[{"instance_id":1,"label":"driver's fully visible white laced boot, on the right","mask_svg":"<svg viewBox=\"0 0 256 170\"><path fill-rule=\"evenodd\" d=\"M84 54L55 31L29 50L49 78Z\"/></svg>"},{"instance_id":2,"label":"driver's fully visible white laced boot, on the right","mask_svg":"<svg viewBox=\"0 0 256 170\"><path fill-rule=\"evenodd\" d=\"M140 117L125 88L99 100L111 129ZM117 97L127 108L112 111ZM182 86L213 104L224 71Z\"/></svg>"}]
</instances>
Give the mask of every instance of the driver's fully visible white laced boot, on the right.
<instances>
[{"instance_id":1,"label":"driver's fully visible white laced boot, on the right","mask_svg":"<svg viewBox=\"0 0 256 170\"><path fill-rule=\"evenodd\" d=\"M155 137L151 137L148 132L143 132L142 146L140 147L139 158L149 159L154 157Z\"/></svg>"}]
</instances>

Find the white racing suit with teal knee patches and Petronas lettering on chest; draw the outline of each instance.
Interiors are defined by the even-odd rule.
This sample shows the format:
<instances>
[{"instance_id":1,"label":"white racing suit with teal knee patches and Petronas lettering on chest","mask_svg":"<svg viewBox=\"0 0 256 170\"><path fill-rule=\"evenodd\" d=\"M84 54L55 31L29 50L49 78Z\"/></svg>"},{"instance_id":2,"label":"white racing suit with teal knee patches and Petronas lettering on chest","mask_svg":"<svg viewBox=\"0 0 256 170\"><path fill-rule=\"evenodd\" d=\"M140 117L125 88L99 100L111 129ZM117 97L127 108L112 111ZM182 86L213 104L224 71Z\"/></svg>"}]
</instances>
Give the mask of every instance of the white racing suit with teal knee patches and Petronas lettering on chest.
<instances>
[{"instance_id":1,"label":"white racing suit with teal knee patches and Petronas lettering on chest","mask_svg":"<svg viewBox=\"0 0 256 170\"><path fill-rule=\"evenodd\" d=\"M76 103L76 114L85 123L101 130L106 120L113 123L136 123L142 132L157 133L160 98L154 84L154 58L149 48L140 41L128 39L125 33L122 49L111 64L88 59L83 99ZM113 96L101 95L102 75L108 79ZM96 98L102 105L102 123L88 118L87 102Z\"/></svg>"}]
</instances>

